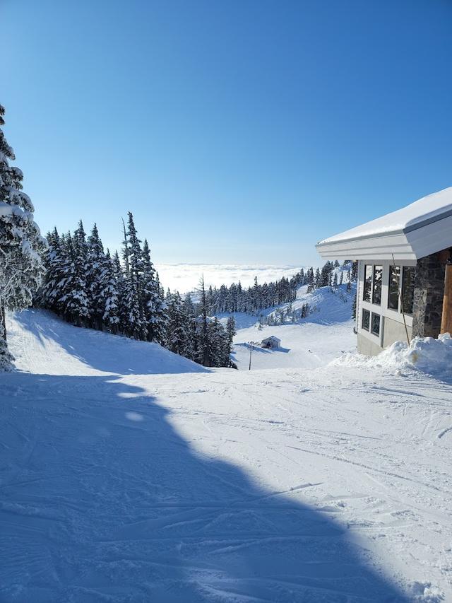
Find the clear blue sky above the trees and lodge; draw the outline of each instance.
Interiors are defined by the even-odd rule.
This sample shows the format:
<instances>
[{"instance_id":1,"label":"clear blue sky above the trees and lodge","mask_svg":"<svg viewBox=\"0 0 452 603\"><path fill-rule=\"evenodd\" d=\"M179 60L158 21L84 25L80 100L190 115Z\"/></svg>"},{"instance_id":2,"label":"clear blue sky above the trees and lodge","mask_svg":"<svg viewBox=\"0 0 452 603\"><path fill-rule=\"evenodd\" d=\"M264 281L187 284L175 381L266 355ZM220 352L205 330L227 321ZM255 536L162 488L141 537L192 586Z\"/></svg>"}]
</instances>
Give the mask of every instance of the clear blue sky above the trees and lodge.
<instances>
[{"instance_id":1,"label":"clear blue sky above the trees and lodge","mask_svg":"<svg viewBox=\"0 0 452 603\"><path fill-rule=\"evenodd\" d=\"M450 0L0 0L42 230L131 210L157 262L317 262L452 185Z\"/></svg>"}]
</instances>

